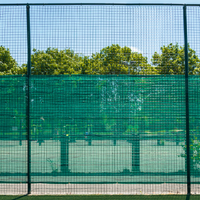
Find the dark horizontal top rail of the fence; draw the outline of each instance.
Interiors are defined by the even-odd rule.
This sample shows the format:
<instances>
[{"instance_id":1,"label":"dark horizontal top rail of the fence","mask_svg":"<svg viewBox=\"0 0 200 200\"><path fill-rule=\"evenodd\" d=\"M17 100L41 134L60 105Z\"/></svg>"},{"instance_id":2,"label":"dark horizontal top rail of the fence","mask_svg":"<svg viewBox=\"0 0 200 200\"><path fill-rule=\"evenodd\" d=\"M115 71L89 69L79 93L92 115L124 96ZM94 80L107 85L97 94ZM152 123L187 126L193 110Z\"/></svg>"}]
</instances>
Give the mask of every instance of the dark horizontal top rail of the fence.
<instances>
[{"instance_id":1,"label":"dark horizontal top rail of the fence","mask_svg":"<svg viewBox=\"0 0 200 200\"><path fill-rule=\"evenodd\" d=\"M200 6L200 4L178 4L178 3L16 3L0 4L0 6L56 6L56 5L91 5L91 6Z\"/></svg>"}]
</instances>

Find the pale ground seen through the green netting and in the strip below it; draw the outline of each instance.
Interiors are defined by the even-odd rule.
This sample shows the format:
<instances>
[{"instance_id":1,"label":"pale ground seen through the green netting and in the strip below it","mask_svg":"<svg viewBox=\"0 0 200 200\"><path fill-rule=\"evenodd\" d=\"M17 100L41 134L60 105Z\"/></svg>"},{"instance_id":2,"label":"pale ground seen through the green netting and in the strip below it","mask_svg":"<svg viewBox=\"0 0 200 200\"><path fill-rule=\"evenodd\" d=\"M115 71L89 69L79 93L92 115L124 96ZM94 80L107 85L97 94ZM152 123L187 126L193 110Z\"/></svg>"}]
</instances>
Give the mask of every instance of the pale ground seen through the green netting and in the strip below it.
<instances>
[{"instance_id":1,"label":"pale ground seen through the green netting and in the strip below it","mask_svg":"<svg viewBox=\"0 0 200 200\"><path fill-rule=\"evenodd\" d=\"M0 151L0 194L26 194L27 185L24 183L27 182L27 143L23 141L20 146L19 141L0 141ZM112 140L104 140L92 141L92 146L88 146L87 141L79 140L69 146L70 172L91 175L39 176L37 173L51 174L53 169L60 172L60 141L44 141L41 146L33 141L31 172L35 175L31 177L32 194L186 194L186 175L168 174L185 170L185 160L179 156L181 153L182 146L175 142L166 141L164 146L158 146L156 140L141 141L140 171L148 174L141 176L136 172L134 176L130 176L131 143L117 141L114 146ZM127 172L126 176L92 175L123 171ZM166 174L156 176L155 172ZM200 178L192 176L191 181L199 183ZM114 184L105 184L111 182ZM200 194L200 184L192 184L192 193Z\"/></svg>"}]
</instances>

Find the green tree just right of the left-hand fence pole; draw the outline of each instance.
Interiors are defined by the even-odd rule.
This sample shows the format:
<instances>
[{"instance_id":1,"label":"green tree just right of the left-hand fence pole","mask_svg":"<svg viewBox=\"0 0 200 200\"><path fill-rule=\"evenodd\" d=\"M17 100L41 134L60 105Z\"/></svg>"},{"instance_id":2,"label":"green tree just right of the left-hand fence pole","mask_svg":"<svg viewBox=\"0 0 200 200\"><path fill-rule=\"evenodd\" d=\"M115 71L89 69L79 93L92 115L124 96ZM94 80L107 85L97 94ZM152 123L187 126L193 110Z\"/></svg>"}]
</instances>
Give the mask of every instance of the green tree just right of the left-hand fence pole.
<instances>
[{"instance_id":1,"label":"green tree just right of the left-hand fence pole","mask_svg":"<svg viewBox=\"0 0 200 200\"><path fill-rule=\"evenodd\" d=\"M31 71L33 75L82 74L87 71L88 57L80 57L70 49L48 48L46 51L33 49ZM26 64L21 68L25 72Z\"/></svg>"}]
</instances>

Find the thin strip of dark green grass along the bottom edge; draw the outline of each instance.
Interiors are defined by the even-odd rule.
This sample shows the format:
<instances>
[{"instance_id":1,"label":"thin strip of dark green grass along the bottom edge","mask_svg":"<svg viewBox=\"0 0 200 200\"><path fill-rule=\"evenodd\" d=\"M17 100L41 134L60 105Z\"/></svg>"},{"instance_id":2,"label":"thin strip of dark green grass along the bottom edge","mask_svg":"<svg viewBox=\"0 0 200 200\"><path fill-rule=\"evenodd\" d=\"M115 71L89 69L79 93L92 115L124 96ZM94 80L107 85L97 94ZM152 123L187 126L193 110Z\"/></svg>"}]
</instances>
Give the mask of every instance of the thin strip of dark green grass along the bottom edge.
<instances>
[{"instance_id":1,"label":"thin strip of dark green grass along the bottom edge","mask_svg":"<svg viewBox=\"0 0 200 200\"><path fill-rule=\"evenodd\" d=\"M0 200L199 200L200 195L24 195L0 196Z\"/></svg>"}]
</instances>

